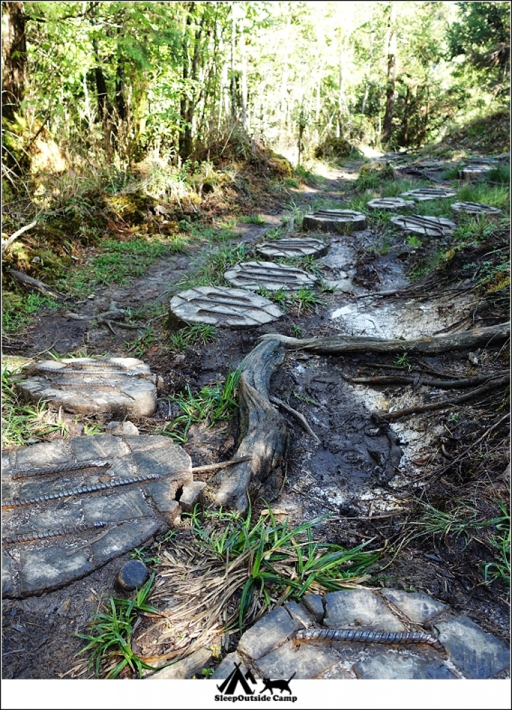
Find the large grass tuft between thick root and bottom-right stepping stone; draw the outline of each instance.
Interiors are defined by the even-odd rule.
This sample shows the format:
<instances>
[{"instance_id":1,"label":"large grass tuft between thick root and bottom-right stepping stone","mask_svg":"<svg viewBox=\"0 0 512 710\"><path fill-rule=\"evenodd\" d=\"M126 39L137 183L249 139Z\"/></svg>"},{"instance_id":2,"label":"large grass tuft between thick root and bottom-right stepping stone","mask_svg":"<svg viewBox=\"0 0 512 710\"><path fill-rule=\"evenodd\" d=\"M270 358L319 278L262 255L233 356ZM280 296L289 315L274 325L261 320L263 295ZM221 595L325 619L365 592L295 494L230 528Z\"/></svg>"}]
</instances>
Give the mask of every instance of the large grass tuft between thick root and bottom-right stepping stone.
<instances>
[{"instance_id":1,"label":"large grass tuft between thick root and bottom-right stepping stone","mask_svg":"<svg viewBox=\"0 0 512 710\"><path fill-rule=\"evenodd\" d=\"M342 589L351 581L361 581L361 572L376 562L379 553L364 550L371 540L352 550L315 542L315 528L328 517L291 528L287 521L278 522L271 508L253 523L250 506L245 517L223 510L205 511L201 517L196 506L191 514L192 535L231 563L230 567L243 564L247 568L248 577L240 589L240 631L255 597L268 606L276 595L282 603L290 598L300 600L308 590Z\"/></svg>"}]
</instances>

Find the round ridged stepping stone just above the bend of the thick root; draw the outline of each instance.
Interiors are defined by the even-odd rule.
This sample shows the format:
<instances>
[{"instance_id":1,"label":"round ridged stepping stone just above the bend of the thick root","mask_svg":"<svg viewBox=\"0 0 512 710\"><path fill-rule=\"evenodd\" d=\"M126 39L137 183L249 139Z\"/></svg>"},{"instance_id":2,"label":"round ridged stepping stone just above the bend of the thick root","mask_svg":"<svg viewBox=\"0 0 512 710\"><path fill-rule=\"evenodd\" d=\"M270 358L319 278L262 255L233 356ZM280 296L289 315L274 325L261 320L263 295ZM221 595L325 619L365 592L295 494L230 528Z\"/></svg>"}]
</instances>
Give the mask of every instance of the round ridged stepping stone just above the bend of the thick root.
<instances>
[{"instance_id":1,"label":"round ridged stepping stone just above the bend of the thick root","mask_svg":"<svg viewBox=\"0 0 512 710\"><path fill-rule=\"evenodd\" d=\"M170 310L179 320L229 328L254 328L283 315L268 298L220 286L198 286L178 293Z\"/></svg>"}]
</instances>

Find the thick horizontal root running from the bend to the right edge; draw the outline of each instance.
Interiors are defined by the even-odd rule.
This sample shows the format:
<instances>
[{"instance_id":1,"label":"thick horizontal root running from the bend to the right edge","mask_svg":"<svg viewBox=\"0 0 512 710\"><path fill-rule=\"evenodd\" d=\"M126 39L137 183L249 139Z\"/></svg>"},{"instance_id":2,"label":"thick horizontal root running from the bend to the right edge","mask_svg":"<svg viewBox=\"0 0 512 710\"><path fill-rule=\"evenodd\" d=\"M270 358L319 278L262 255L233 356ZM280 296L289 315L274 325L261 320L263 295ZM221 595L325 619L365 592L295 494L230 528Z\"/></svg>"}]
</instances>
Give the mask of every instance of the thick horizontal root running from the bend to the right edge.
<instances>
[{"instance_id":1,"label":"thick horizontal root running from the bend to the right edge","mask_svg":"<svg viewBox=\"0 0 512 710\"><path fill-rule=\"evenodd\" d=\"M352 353L425 353L438 354L453 350L473 349L489 346L491 342L501 343L510 337L510 323L486 328L475 328L450 335L424 337L413 340L385 340L364 336L334 335L328 338L290 338L278 333L261 336L261 340L275 339L290 349L309 350L324 355L344 355Z\"/></svg>"}]
</instances>

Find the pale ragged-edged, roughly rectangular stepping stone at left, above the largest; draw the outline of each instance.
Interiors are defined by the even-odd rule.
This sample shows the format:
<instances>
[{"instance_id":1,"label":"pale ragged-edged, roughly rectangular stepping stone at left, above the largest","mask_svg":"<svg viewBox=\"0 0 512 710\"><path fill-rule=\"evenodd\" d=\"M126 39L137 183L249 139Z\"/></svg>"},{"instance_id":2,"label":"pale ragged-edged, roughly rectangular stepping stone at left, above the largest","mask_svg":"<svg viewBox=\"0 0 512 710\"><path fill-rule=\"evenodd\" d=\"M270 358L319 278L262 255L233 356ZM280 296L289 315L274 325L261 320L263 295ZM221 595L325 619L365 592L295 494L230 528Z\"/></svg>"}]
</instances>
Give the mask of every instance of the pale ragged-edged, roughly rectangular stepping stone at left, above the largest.
<instances>
[{"instance_id":1,"label":"pale ragged-edged, roughly rectangular stepping stone at left, above the largest","mask_svg":"<svg viewBox=\"0 0 512 710\"><path fill-rule=\"evenodd\" d=\"M150 417L156 410L157 378L136 358L42 360L23 368L23 397L48 401L73 414L109 413L119 418Z\"/></svg>"}]
</instances>

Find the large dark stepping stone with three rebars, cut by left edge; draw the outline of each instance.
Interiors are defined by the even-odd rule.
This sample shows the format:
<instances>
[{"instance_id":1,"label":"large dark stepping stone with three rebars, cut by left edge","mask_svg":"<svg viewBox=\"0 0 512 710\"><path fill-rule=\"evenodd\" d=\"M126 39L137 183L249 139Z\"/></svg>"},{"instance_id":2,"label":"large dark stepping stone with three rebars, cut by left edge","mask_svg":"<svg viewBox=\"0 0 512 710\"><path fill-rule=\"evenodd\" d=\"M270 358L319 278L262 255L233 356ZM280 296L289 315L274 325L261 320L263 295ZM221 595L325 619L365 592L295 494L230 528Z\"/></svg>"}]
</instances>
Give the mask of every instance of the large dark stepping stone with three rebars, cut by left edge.
<instances>
[{"instance_id":1,"label":"large dark stepping stone with three rebars, cut by left edge","mask_svg":"<svg viewBox=\"0 0 512 710\"><path fill-rule=\"evenodd\" d=\"M2 456L2 592L23 598L85 577L165 532L192 461L168 437L102 434Z\"/></svg>"}]
</instances>

